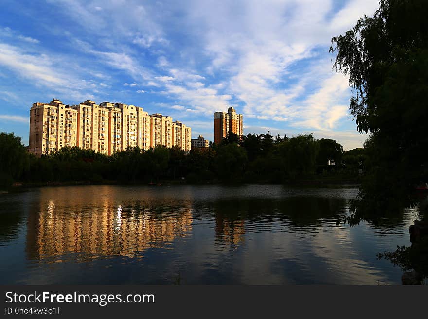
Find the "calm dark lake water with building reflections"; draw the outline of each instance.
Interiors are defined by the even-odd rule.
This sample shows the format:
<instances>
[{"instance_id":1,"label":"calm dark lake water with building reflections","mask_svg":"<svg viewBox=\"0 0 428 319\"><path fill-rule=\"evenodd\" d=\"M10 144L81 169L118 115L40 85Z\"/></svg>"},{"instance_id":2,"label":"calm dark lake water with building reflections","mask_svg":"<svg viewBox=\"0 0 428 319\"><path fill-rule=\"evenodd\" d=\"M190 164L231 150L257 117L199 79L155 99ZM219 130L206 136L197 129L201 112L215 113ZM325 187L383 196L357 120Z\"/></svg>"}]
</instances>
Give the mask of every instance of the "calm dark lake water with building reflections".
<instances>
[{"instance_id":1,"label":"calm dark lake water with building reflections","mask_svg":"<svg viewBox=\"0 0 428 319\"><path fill-rule=\"evenodd\" d=\"M336 226L357 188L71 186L0 194L0 284L400 284L407 211Z\"/></svg>"}]
</instances>

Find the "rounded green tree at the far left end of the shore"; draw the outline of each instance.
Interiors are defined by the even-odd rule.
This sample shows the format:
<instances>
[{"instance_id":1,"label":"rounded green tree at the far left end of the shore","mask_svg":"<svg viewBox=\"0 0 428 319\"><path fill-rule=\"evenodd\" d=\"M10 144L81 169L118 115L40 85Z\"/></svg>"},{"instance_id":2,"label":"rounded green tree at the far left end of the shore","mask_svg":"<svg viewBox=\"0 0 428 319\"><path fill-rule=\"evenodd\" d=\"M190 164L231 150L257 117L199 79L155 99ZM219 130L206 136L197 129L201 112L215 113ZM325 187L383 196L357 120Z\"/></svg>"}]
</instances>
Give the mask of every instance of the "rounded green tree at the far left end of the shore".
<instances>
[{"instance_id":1,"label":"rounded green tree at the far left end of the shore","mask_svg":"<svg viewBox=\"0 0 428 319\"><path fill-rule=\"evenodd\" d=\"M14 133L0 133L0 186L10 186L28 169L29 154Z\"/></svg>"}]
</instances>

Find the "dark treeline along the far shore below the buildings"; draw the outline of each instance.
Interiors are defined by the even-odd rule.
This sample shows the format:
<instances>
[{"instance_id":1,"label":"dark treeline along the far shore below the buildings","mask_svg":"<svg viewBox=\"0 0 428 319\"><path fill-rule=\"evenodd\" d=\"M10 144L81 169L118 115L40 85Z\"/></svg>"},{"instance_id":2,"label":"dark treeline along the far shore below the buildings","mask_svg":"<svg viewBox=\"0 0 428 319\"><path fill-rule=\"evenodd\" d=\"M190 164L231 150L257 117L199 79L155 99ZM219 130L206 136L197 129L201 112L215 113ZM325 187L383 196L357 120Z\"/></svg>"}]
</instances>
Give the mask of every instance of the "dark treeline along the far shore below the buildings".
<instances>
[{"instance_id":1,"label":"dark treeline along the far shore below the buildings","mask_svg":"<svg viewBox=\"0 0 428 319\"><path fill-rule=\"evenodd\" d=\"M286 183L302 179L356 180L364 150L343 151L331 139L311 134L273 137L228 135L220 145L185 153L178 147L128 149L107 156L78 147L62 148L38 158L26 152L20 137L0 135L1 185L88 181L103 183ZM328 163L330 165L328 165ZM334 165L332 165L334 163Z\"/></svg>"}]
</instances>

